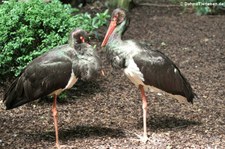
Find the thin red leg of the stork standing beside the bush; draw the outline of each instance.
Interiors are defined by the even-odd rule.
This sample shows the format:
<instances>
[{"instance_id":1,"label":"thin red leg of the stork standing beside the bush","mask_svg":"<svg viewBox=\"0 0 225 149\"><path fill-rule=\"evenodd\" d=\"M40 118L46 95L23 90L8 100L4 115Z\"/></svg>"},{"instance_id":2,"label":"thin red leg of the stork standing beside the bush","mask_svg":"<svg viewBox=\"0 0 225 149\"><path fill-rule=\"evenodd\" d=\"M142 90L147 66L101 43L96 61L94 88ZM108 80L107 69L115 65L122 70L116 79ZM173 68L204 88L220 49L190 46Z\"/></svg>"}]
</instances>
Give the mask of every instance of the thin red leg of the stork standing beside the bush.
<instances>
[{"instance_id":1,"label":"thin red leg of the stork standing beside the bush","mask_svg":"<svg viewBox=\"0 0 225 149\"><path fill-rule=\"evenodd\" d=\"M54 118L54 126L55 126L55 139L56 139L56 147L59 147L59 137L58 137L58 113L56 109L57 95L54 95L54 101L52 105L52 115Z\"/></svg>"}]
</instances>

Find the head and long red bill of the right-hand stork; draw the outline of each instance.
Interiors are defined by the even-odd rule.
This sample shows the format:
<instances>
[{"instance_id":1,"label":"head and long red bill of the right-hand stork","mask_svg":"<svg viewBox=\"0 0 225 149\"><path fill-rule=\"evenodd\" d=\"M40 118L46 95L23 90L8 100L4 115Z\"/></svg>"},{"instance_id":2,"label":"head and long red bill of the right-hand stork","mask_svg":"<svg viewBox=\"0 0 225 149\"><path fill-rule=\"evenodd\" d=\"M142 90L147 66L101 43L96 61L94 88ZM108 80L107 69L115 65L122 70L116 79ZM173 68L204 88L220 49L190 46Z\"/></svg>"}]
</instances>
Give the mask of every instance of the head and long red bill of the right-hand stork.
<instances>
[{"instance_id":1,"label":"head and long red bill of the right-hand stork","mask_svg":"<svg viewBox=\"0 0 225 149\"><path fill-rule=\"evenodd\" d=\"M109 24L108 30L106 32L105 38L104 38L101 46L104 47L107 44L110 35L114 31L117 31L122 34L126 30L128 23L129 23L129 21L127 19L125 10L123 10L121 8L115 9L112 12L111 22Z\"/></svg>"}]
</instances>

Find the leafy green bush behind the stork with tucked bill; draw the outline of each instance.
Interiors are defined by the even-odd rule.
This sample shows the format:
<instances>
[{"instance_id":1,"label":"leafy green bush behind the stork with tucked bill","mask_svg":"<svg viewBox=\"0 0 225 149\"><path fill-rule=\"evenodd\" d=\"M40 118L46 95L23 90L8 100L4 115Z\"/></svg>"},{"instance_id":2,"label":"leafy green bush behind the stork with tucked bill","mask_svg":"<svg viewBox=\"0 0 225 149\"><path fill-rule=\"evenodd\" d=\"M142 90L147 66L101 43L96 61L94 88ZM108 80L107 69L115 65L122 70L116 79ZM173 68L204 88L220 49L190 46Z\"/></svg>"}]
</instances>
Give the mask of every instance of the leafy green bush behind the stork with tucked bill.
<instances>
[{"instance_id":1,"label":"leafy green bush behind the stork with tucked bill","mask_svg":"<svg viewBox=\"0 0 225 149\"><path fill-rule=\"evenodd\" d=\"M93 31L109 18L107 10L94 17L78 12L59 0L4 1L0 5L0 77L19 75L34 58L67 43L73 28Z\"/></svg>"}]
</instances>

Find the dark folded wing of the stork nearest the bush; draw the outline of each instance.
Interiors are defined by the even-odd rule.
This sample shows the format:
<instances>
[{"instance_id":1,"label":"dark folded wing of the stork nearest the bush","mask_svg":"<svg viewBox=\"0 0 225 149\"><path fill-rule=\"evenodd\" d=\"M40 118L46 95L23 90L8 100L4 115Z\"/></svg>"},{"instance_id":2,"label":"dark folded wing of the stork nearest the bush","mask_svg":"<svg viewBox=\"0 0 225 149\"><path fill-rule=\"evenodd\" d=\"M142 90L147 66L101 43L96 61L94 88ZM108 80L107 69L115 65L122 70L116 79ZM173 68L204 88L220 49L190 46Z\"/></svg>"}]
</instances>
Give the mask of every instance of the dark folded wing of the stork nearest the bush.
<instances>
[{"instance_id":1,"label":"dark folded wing of the stork nearest the bush","mask_svg":"<svg viewBox=\"0 0 225 149\"><path fill-rule=\"evenodd\" d=\"M64 47L65 48L65 47ZM61 52L58 52L60 51ZM63 89L72 72L70 50L52 50L32 61L5 93L7 109Z\"/></svg>"}]
</instances>

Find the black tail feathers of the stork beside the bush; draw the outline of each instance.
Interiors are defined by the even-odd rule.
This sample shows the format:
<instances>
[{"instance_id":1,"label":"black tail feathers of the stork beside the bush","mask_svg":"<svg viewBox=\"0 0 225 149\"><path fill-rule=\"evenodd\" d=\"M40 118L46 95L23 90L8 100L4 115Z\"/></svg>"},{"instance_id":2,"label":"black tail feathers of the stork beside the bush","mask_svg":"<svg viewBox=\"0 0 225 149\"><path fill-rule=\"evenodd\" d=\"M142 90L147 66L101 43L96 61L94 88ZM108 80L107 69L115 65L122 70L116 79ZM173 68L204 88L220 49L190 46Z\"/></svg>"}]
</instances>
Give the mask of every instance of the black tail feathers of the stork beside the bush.
<instances>
[{"instance_id":1,"label":"black tail feathers of the stork beside the bush","mask_svg":"<svg viewBox=\"0 0 225 149\"><path fill-rule=\"evenodd\" d=\"M9 89L6 91L3 102L6 106L6 110L16 108L28 102L24 94L23 84L19 78L14 80Z\"/></svg>"}]
</instances>

